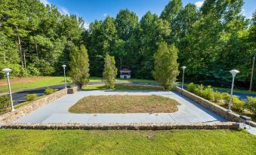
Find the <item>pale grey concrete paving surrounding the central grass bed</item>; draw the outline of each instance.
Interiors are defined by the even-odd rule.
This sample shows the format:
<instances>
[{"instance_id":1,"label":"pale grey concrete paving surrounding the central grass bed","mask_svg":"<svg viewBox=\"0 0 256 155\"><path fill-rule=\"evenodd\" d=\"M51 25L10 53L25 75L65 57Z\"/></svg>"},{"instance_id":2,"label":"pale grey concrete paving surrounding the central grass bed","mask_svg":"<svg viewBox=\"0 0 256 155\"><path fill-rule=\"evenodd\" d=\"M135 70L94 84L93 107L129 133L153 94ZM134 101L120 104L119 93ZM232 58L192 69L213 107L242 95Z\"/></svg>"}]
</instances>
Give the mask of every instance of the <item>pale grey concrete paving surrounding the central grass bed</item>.
<instances>
[{"instance_id":1,"label":"pale grey concrete paving surrounding the central grass bed","mask_svg":"<svg viewBox=\"0 0 256 155\"><path fill-rule=\"evenodd\" d=\"M85 96L159 95L180 102L174 113L159 114L70 114L68 109ZM216 123L224 118L178 93L164 91L80 91L57 99L39 108L16 123Z\"/></svg>"}]
</instances>

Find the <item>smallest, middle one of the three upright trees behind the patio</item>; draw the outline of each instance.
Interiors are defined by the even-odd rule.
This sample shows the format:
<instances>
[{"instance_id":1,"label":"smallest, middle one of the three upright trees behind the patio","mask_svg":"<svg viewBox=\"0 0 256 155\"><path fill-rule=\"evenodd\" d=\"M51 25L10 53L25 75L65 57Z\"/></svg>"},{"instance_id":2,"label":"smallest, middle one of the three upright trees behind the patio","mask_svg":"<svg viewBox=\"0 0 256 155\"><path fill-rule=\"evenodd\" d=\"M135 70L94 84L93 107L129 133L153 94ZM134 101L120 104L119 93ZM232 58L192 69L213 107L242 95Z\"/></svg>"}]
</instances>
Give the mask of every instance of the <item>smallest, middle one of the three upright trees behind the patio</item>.
<instances>
[{"instance_id":1,"label":"smallest, middle one of the three upright trees behind the patio","mask_svg":"<svg viewBox=\"0 0 256 155\"><path fill-rule=\"evenodd\" d=\"M109 90L114 89L117 75L115 57L106 53L104 62L103 81Z\"/></svg>"}]
</instances>

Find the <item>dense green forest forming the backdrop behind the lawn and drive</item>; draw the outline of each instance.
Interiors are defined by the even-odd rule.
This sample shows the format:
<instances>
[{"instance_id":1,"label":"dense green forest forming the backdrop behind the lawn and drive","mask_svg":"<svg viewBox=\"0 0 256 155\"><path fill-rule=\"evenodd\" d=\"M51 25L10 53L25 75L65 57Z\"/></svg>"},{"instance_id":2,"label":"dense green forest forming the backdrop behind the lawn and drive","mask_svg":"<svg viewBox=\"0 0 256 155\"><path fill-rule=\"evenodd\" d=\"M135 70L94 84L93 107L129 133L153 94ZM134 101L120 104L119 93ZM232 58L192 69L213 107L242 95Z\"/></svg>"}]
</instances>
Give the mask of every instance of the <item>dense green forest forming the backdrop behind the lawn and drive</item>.
<instances>
[{"instance_id":1,"label":"dense green forest forming the backdrop behind the lawn and drive","mask_svg":"<svg viewBox=\"0 0 256 155\"><path fill-rule=\"evenodd\" d=\"M72 47L83 44L91 76L102 76L108 53L115 56L118 69L130 68L133 78L151 79L153 55L159 42L166 41L177 47L180 66L187 66L187 81L230 85L229 71L236 68L240 86L248 87L256 13L246 19L242 5L243 0L205 0L196 8L171 0L160 16L148 11L139 19L124 9L116 18L95 20L85 29L82 17L60 14L54 5L1 0L0 68L12 68L16 77L62 74Z\"/></svg>"}]
</instances>

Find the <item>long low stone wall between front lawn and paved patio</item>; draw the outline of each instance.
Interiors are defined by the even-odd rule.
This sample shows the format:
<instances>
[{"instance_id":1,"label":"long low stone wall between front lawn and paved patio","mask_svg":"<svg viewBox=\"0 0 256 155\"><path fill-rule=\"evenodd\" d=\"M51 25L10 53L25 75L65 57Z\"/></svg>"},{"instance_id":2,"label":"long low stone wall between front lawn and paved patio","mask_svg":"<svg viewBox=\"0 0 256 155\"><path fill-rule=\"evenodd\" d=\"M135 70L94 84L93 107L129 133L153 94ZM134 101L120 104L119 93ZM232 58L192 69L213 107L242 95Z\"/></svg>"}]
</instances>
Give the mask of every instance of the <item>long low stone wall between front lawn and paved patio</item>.
<instances>
[{"instance_id":1,"label":"long low stone wall between front lawn and paved patio","mask_svg":"<svg viewBox=\"0 0 256 155\"><path fill-rule=\"evenodd\" d=\"M2 129L126 129L126 130L170 130L170 129L239 129L239 123L38 123L9 124Z\"/></svg>"}]
</instances>

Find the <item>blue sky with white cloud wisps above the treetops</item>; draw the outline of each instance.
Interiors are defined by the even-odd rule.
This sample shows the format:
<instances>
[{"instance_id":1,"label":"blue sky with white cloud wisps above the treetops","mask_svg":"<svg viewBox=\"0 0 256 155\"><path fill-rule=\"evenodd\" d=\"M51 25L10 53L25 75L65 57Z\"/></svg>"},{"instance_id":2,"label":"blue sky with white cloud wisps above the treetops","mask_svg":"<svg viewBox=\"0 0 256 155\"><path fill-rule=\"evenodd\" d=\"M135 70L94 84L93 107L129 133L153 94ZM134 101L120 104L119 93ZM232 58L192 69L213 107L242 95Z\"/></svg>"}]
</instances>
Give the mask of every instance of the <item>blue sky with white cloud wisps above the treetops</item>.
<instances>
[{"instance_id":1,"label":"blue sky with white cloud wisps above the treetops","mask_svg":"<svg viewBox=\"0 0 256 155\"><path fill-rule=\"evenodd\" d=\"M94 20L103 20L106 16L116 17L120 9L128 8L138 17L147 11L161 14L169 0L40 0L44 4L56 5L61 14L76 14L83 17L85 23ZM202 5L203 0L182 0L183 5L188 3ZM242 14L250 18L256 10L256 0L244 0Z\"/></svg>"}]
</instances>

